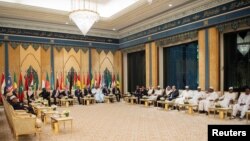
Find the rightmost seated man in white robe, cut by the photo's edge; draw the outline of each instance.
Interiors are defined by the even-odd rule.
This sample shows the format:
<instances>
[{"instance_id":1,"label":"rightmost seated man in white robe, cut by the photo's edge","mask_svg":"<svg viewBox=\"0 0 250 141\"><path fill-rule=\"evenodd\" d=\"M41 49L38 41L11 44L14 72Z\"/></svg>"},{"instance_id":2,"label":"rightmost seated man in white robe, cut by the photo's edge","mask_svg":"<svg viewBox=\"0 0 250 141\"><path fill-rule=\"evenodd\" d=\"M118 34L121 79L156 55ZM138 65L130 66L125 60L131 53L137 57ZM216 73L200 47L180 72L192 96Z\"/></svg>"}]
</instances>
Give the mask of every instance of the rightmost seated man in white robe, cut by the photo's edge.
<instances>
[{"instance_id":1,"label":"rightmost seated man in white robe, cut by the photo's edge","mask_svg":"<svg viewBox=\"0 0 250 141\"><path fill-rule=\"evenodd\" d=\"M245 93L241 94L238 103L233 106L233 113L230 119L234 119L240 112L240 120L243 119L250 105L250 89L246 88Z\"/></svg>"}]
</instances>

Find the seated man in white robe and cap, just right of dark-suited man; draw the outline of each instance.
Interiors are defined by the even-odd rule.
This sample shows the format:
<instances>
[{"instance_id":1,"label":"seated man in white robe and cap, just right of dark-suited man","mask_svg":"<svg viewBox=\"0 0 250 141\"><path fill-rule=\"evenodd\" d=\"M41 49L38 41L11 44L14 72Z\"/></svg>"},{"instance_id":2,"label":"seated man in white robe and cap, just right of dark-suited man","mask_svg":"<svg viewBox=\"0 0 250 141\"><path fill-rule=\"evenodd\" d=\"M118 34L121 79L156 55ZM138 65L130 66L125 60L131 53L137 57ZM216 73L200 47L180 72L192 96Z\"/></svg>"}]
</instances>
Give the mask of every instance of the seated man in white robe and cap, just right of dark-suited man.
<instances>
[{"instance_id":1,"label":"seated man in white robe and cap, just right of dark-suited man","mask_svg":"<svg viewBox=\"0 0 250 141\"><path fill-rule=\"evenodd\" d=\"M188 100L192 97L193 97L193 93L189 90L189 86L185 86L185 90L182 91L179 98L176 98L175 106L178 106L179 104L184 104L184 100ZM179 109L179 107L177 109Z\"/></svg>"}]
</instances>

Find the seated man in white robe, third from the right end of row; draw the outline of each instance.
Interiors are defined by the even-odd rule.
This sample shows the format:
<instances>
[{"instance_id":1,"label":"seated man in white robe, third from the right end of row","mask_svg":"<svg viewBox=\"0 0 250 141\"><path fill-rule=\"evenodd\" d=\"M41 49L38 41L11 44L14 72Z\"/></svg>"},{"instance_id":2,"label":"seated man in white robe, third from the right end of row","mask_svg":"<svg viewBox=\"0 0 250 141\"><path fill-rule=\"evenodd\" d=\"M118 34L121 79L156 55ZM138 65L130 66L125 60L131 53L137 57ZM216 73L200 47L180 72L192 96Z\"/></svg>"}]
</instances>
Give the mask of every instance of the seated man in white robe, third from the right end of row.
<instances>
[{"instance_id":1,"label":"seated man in white robe, third from the right end of row","mask_svg":"<svg viewBox=\"0 0 250 141\"><path fill-rule=\"evenodd\" d=\"M219 98L218 93L214 92L213 87L210 87L208 90L208 95L205 99L201 100L198 105L198 110L200 112L206 112L208 115L208 108L212 107L214 104L215 100Z\"/></svg>"}]
</instances>

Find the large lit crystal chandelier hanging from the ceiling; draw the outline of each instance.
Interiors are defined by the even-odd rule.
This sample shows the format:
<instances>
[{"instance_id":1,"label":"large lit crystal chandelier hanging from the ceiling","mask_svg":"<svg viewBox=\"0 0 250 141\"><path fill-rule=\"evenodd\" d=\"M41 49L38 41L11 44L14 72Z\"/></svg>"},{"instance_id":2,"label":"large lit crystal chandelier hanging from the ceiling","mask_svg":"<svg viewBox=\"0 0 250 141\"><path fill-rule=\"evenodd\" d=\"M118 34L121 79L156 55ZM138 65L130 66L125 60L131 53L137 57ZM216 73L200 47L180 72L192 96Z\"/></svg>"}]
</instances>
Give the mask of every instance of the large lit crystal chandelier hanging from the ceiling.
<instances>
[{"instance_id":1,"label":"large lit crystal chandelier hanging from the ceiling","mask_svg":"<svg viewBox=\"0 0 250 141\"><path fill-rule=\"evenodd\" d=\"M97 0L71 0L72 11L69 18L76 24L85 36L95 22L100 19L97 12Z\"/></svg>"}]
</instances>

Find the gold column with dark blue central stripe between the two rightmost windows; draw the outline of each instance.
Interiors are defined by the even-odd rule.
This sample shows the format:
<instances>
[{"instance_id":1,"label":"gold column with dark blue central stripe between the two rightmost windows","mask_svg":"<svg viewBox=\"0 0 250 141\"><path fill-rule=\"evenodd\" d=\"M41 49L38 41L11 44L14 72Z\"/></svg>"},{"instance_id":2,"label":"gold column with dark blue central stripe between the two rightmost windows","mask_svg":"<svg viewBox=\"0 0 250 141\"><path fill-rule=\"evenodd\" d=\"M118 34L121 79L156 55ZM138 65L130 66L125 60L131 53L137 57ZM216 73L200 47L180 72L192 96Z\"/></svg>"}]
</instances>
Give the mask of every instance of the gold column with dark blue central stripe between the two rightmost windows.
<instances>
[{"instance_id":1,"label":"gold column with dark blue central stripe between the two rightmost windows","mask_svg":"<svg viewBox=\"0 0 250 141\"><path fill-rule=\"evenodd\" d=\"M199 43L199 85L202 90L213 86L219 90L219 32L216 28L200 30Z\"/></svg>"}]
</instances>

